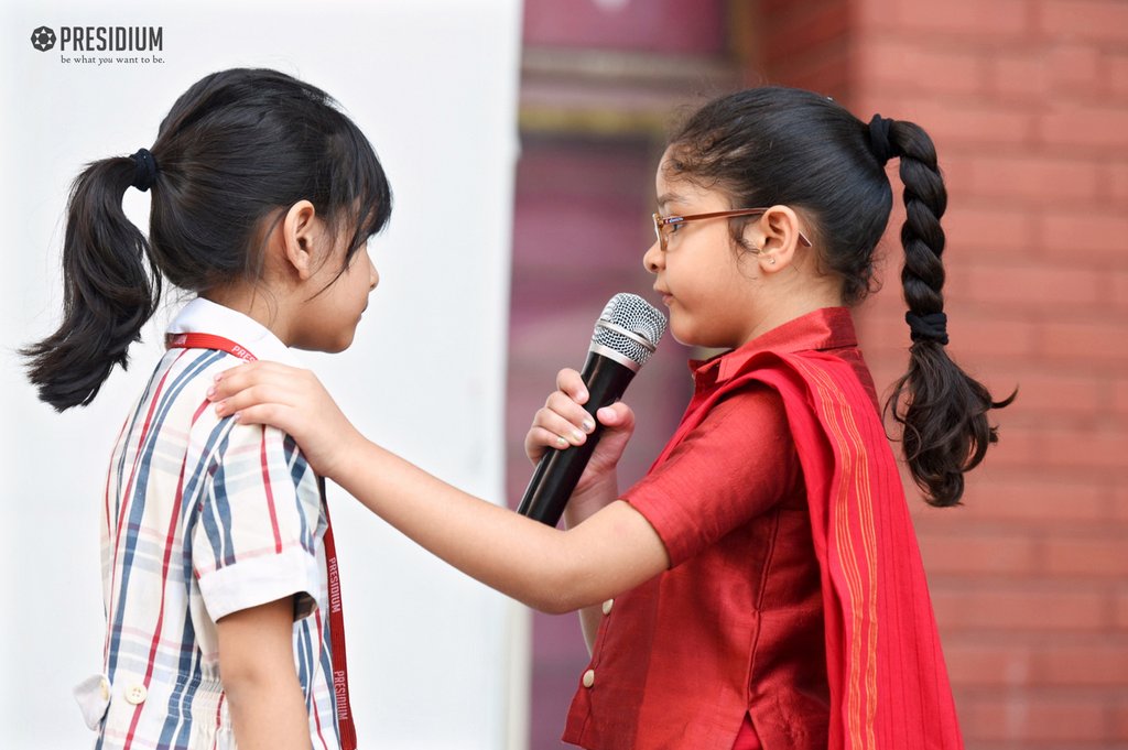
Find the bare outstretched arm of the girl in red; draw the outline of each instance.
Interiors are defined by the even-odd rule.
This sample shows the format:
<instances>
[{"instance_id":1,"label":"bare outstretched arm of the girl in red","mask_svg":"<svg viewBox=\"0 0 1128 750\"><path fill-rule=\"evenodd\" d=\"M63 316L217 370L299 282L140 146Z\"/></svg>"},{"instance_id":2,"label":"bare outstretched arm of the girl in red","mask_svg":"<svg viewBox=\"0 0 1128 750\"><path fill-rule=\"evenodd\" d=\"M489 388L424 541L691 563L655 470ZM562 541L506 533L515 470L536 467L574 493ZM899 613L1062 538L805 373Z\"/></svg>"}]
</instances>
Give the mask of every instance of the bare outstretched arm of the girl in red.
<instances>
[{"instance_id":1,"label":"bare outstretched arm of the girl in red","mask_svg":"<svg viewBox=\"0 0 1128 750\"><path fill-rule=\"evenodd\" d=\"M464 573L536 609L600 605L669 564L642 514L613 500L614 478L606 473L598 480L581 479L585 486L574 500L582 518L574 513L570 528L559 531L468 495L369 442L307 371L241 365L222 376L214 398L221 414L285 430L317 470L377 515ZM615 444L609 433L600 449L607 455Z\"/></svg>"}]
</instances>

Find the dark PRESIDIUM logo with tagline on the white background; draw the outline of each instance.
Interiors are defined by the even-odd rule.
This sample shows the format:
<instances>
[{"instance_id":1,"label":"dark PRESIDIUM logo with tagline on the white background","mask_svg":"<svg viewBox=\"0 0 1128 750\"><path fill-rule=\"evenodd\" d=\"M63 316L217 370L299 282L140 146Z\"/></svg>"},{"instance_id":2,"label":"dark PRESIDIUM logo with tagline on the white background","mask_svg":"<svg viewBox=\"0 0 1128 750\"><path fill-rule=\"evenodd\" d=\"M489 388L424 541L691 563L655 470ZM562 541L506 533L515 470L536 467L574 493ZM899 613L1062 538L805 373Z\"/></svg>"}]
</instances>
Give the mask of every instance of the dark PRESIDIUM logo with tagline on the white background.
<instances>
[{"instance_id":1,"label":"dark PRESIDIUM logo with tagline on the white background","mask_svg":"<svg viewBox=\"0 0 1128 750\"><path fill-rule=\"evenodd\" d=\"M39 26L32 46L54 51L68 65L141 65L165 62L164 26Z\"/></svg>"}]
</instances>

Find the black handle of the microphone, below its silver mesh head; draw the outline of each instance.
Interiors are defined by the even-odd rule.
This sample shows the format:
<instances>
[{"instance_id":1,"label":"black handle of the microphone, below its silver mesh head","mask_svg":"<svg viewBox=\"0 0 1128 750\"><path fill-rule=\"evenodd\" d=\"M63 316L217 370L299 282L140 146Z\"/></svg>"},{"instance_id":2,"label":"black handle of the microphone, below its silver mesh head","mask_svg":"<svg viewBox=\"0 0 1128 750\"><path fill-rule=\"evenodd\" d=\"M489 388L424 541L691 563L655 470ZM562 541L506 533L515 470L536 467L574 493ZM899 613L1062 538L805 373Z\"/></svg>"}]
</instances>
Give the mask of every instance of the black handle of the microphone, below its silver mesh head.
<instances>
[{"instance_id":1,"label":"black handle of the microphone, below its silver mesh head","mask_svg":"<svg viewBox=\"0 0 1128 750\"><path fill-rule=\"evenodd\" d=\"M567 505L569 497L580 482L583 469L588 466L588 460L603 432L603 426L596 418L596 411L619 400L634 374L634 370L610 358L596 352L588 353L588 361L581 373L584 385L588 386L588 403L583 408L591 415L596 429L582 445L572 445L563 450L550 448L540 457L537 470L532 473L529 486L525 489L525 496L517 509L518 513L552 527L559 522L564 506Z\"/></svg>"}]
</instances>

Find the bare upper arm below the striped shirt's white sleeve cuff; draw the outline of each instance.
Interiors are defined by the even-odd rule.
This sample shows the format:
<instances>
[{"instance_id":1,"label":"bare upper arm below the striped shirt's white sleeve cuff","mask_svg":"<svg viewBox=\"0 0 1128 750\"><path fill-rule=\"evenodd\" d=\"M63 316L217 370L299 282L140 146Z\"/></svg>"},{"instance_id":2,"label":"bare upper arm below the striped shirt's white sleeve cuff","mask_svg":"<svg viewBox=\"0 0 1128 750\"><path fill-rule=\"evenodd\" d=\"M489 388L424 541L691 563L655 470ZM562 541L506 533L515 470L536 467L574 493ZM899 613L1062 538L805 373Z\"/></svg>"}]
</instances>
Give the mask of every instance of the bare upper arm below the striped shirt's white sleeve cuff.
<instances>
[{"instance_id":1,"label":"bare upper arm below the striped shirt's white sleeve cuff","mask_svg":"<svg viewBox=\"0 0 1128 750\"><path fill-rule=\"evenodd\" d=\"M219 667L243 750L308 750L309 714L293 663L293 599L221 617Z\"/></svg>"}]
</instances>

